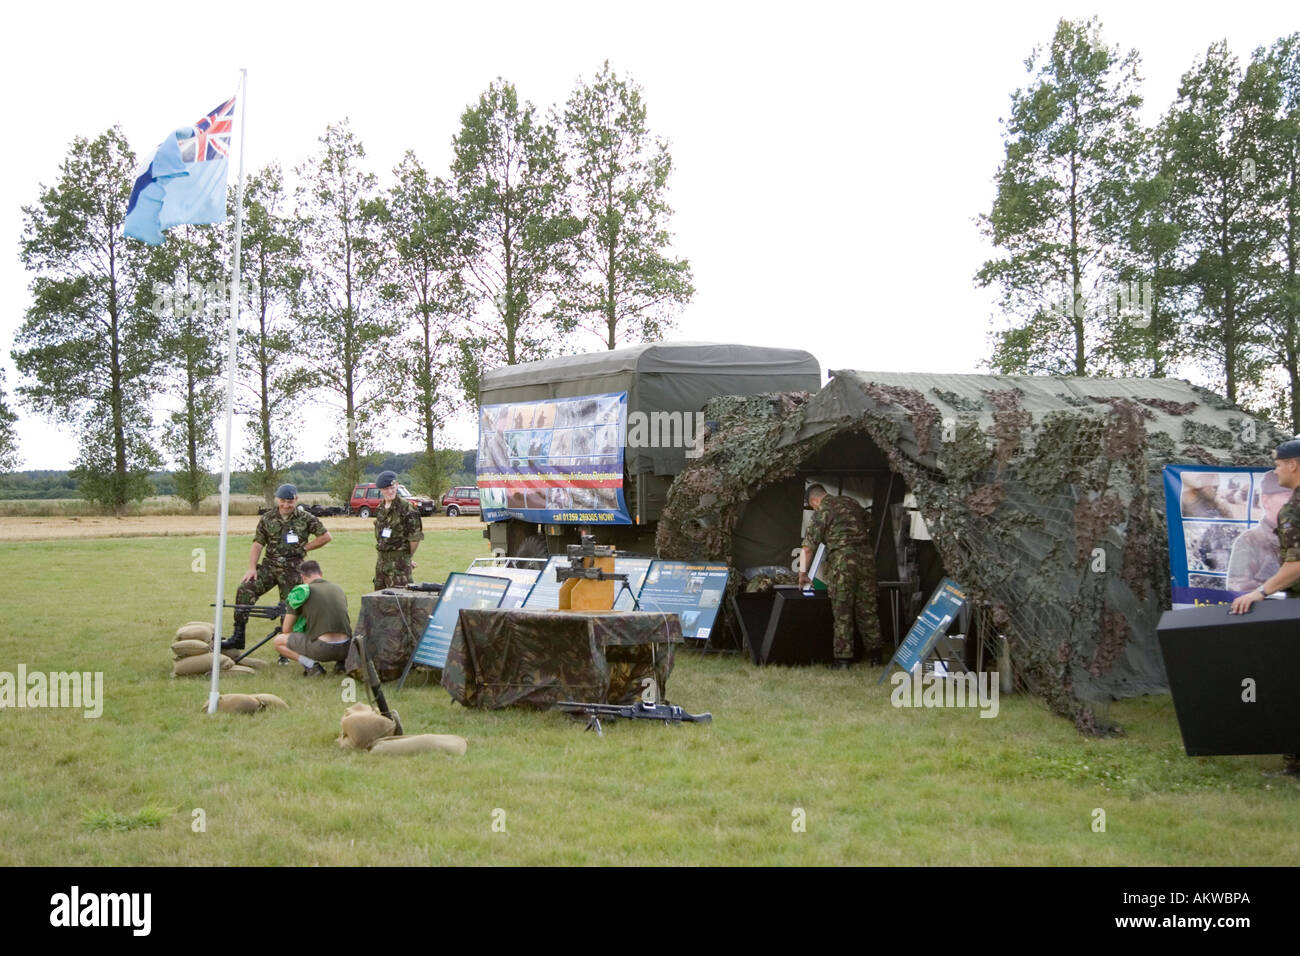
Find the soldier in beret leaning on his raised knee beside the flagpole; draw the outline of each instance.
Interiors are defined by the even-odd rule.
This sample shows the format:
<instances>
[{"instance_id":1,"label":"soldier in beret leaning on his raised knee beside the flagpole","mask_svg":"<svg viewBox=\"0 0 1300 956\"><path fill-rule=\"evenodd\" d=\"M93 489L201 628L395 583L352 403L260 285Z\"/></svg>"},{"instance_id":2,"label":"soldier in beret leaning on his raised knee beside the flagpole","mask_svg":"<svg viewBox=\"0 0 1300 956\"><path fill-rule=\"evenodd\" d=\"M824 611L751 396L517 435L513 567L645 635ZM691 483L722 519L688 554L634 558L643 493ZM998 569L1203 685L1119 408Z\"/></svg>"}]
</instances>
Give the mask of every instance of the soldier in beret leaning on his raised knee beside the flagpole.
<instances>
[{"instance_id":1,"label":"soldier in beret leaning on his raised knee beside the flagpole","mask_svg":"<svg viewBox=\"0 0 1300 956\"><path fill-rule=\"evenodd\" d=\"M302 583L298 566L307 551L324 548L329 541L330 535L321 519L298 506L298 489L281 485L276 489L276 507L257 520L248 551L248 572L235 592L235 604L257 604L257 598L274 587L280 588L280 600L283 601ZM263 549L266 555L259 564ZM235 611L235 627L230 637L221 641L222 650L242 649L247 626L248 611Z\"/></svg>"}]
</instances>

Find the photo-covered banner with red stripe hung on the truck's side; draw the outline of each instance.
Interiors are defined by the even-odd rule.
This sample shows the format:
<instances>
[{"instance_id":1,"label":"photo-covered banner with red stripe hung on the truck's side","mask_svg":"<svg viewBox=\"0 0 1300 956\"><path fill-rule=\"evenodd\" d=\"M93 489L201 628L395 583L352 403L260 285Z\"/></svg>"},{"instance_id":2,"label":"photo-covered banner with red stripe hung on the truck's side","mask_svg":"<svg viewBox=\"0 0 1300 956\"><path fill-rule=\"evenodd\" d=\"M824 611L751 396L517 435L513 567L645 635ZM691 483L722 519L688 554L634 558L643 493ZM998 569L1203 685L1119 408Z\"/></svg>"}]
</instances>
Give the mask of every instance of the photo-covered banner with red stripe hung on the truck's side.
<instances>
[{"instance_id":1,"label":"photo-covered banner with red stripe hung on the truck's side","mask_svg":"<svg viewBox=\"0 0 1300 956\"><path fill-rule=\"evenodd\" d=\"M627 412L625 392L480 408L484 520L632 524L623 497Z\"/></svg>"}]
</instances>

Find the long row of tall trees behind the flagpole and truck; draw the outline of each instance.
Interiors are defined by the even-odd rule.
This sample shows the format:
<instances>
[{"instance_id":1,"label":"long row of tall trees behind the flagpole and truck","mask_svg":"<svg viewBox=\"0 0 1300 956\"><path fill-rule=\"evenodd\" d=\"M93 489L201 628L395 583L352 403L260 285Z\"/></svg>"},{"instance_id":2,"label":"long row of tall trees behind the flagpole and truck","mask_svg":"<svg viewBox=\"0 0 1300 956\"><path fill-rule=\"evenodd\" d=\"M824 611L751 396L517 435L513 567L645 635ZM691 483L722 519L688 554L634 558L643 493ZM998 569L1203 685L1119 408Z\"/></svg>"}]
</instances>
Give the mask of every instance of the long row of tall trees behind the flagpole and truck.
<instances>
[{"instance_id":1,"label":"long row of tall trees behind the flagpole and truck","mask_svg":"<svg viewBox=\"0 0 1300 956\"><path fill-rule=\"evenodd\" d=\"M441 494L462 464L441 429L485 369L586 351L584 333L608 349L662 338L694 294L671 251L667 144L608 62L545 114L493 82L451 153L436 176L408 151L381 186L344 120L291 176L247 177L235 411L239 463L268 502L300 450L304 402L335 416L333 493L399 425L420 449L412 490ZM82 496L121 514L168 463L198 510L221 447L235 191L226 224L144 246L122 237L135 165L117 127L77 137L23 208L32 302L16 392L78 431ZM18 466L14 421L0 378L0 472Z\"/></svg>"}]
</instances>

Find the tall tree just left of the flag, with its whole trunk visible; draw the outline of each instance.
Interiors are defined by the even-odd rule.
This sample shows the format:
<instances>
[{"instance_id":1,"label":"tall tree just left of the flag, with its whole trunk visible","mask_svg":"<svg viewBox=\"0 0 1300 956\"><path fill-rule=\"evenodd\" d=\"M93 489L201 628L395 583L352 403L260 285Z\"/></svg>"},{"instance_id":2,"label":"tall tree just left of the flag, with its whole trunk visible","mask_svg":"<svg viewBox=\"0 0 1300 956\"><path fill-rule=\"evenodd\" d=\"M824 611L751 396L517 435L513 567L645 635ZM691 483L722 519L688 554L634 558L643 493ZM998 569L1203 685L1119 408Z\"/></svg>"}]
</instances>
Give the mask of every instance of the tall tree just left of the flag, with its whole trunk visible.
<instances>
[{"instance_id":1,"label":"tall tree just left of the flag, with its whole trunk visible","mask_svg":"<svg viewBox=\"0 0 1300 956\"><path fill-rule=\"evenodd\" d=\"M135 156L113 127L77 137L58 181L23 207L20 258L32 304L12 352L38 412L77 428L81 494L121 515L151 493L159 319L142 285L144 247L122 237Z\"/></svg>"}]
</instances>

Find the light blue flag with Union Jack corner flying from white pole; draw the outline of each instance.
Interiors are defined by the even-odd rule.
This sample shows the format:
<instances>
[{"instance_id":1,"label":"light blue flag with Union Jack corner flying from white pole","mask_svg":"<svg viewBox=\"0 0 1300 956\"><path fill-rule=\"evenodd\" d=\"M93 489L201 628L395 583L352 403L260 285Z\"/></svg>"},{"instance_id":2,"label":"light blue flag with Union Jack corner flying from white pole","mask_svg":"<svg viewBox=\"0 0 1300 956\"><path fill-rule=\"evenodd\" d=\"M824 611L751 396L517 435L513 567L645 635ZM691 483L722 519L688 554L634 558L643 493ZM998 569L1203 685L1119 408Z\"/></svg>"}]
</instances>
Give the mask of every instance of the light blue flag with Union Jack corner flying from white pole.
<instances>
[{"instance_id":1,"label":"light blue flag with Union Jack corner flying from white pole","mask_svg":"<svg viewBox=\"0 0 1300 956\"><path fill-rule=\"evenodd\" d=\"M136 170L122 232L151 246L164 229L226 219L226 170L235 98L192 126L169 133L148 163Z\"/></svg>"}]
</instances>

